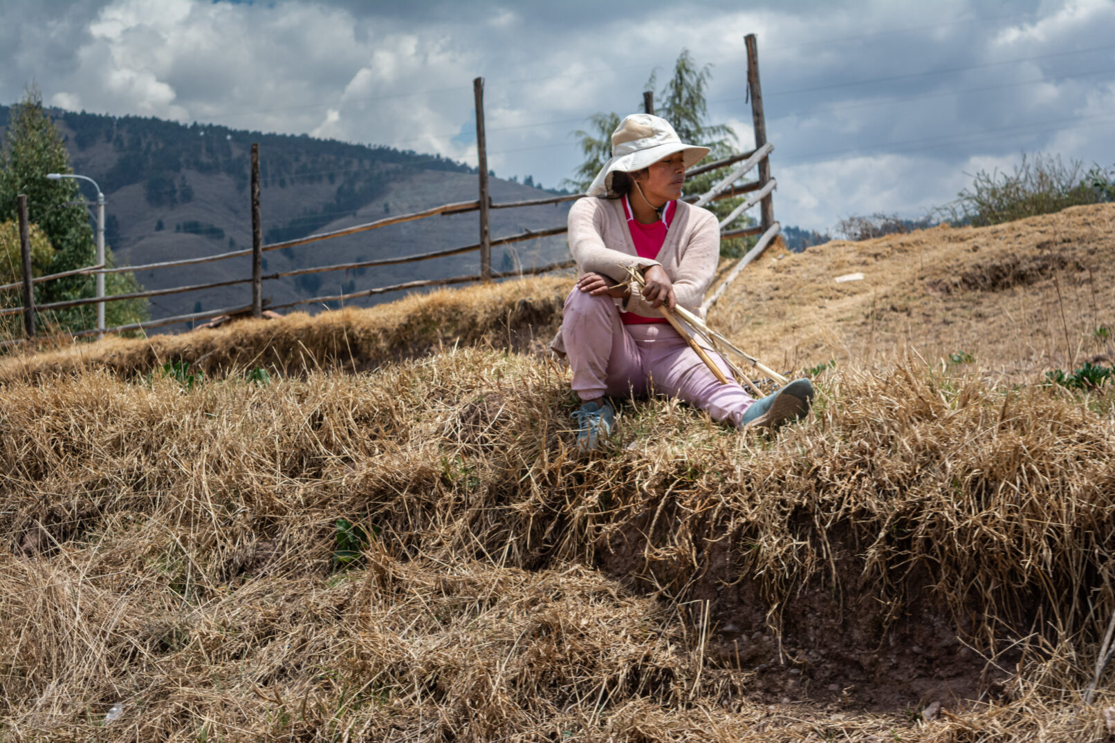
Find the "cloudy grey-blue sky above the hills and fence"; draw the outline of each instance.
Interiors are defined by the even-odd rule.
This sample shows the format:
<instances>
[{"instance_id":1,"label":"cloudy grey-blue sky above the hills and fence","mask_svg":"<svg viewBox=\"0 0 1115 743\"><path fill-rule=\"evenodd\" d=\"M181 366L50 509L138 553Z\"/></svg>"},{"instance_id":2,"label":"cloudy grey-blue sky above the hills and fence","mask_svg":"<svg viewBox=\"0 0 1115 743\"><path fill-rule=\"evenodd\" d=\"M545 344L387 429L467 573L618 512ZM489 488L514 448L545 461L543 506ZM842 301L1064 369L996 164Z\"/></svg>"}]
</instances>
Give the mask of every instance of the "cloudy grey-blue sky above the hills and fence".
<instances>
[{"instance_id":1,"label":"cloudy grey-blue sky above the hills and fence","mask_svg":"<svg viewBox=\"0 0 1115 743\"><path fill-rule=\"evenodd\" d=\"M775 216L918 217L1022 151L1115 166L1115 0L2 0L0 101L311 134L488 164L546 186L571 131L633 113L688 48L710 119L752 139L756 33Z\"/></svg>"}]
</instances>

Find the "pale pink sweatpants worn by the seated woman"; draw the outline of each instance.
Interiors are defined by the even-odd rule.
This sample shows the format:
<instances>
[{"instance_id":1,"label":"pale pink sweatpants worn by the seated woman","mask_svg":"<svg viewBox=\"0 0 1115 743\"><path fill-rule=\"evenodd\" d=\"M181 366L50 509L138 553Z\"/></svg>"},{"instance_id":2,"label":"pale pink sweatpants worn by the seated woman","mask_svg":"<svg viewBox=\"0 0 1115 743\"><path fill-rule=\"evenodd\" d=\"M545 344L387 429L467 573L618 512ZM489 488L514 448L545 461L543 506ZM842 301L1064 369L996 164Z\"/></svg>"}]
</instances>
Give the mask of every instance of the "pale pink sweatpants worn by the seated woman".
<instances>
[{"instance_id":1,"label":"pale pink sweatpants worn by the seated woman","mask_svg":"<svg viewBox=\"0 0 1115 743\"><path fill-rule=\"evenodd\" d=\"M709 356L728 378L721 384L683 338L666 323L624 325L607 295L591 296L573 287L562 317L565 353L573 370L573 391L582 400L604 394L677 397L712 420L739 426L755 400L737 383L724 359Z\"/></svg>"}]
</instances>

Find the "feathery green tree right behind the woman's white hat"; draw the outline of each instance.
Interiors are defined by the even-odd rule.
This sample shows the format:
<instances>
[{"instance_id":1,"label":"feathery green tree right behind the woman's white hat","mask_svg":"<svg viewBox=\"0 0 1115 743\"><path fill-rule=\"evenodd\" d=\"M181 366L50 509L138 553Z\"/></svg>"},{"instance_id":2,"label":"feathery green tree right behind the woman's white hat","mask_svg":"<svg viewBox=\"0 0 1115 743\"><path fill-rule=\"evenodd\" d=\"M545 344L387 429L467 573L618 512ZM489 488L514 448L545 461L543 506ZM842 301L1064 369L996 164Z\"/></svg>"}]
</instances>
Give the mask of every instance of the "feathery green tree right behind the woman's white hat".
<instances>
[{"instance_id":1,"label":"feathery green tree right behind the woman's white hat","mask_svg":"<svg viewBox=\"0 0 1115 743\"><path fill-rule=\"evenodd\" d=\"M658 72L652 71L647 80L646 89L655 92L655 113L669 121L682 141L705 145L710 148L708 159L720 159L738 154L739 141L735 130L724 124L708 121L708 105L706 89L712 78L712 66L699 66L689 53L682 49L673 63L669 79L658 88ZM658 88L658 89L656 89ZM634 110L642 110L640 100ZM611 157L612 131L619 127L622 116L619 114L594 114L590 117L588 129L578 129L573 136L580 138L584 160L573 173L572 178L563 183L578 190L585 190L597 173ZM685 193L702 194L727 175L724 169L707 173L686 179ZM712 202L707 208L724 218L738 205L744 197L726 198ZM731 227L744 227L754 224L750 217L740 217L733 222ZM736 238L720 243L720 254L726 257L738 257L752 245L755 238Z\"/></svg>"}]
</instances>

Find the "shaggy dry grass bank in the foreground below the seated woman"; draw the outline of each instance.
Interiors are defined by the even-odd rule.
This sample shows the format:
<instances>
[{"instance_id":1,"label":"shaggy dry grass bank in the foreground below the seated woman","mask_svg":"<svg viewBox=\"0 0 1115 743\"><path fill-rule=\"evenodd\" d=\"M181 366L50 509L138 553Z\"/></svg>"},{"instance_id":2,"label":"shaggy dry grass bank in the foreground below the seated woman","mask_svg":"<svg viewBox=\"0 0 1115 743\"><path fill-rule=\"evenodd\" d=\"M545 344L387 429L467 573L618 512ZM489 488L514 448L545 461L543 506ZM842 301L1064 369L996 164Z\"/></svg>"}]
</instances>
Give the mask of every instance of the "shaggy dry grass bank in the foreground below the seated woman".
<instances>
[{"instance_id":1,"label":"shaggy dry grass bank in the foreground below the seated woman","mask_svg":"<svg viewBox=\"0 0 1115 743\"><path fill-rule=\"evenodd\" d=\"M632 405L585 460L563 373L494 351L270 385L8 383L0 724L51 740L1098 730L1106 692L1069 710L1113 607L1115 436L1092 410L1111 401L912 364L824 390L775 440ZM357 565L334 565L339 517L376 534ZM733 622L749 624L728 644ZM872 674L933 675L879 649L923 622L1027 673L990 706L943 697L956 718L932 724L843 716L935 698L870 697ZM849 636L816 636L833 626ZM1025 654L1004 645L1019 637ZM862 688L842 698L830 678Z\"/></svg>"}]
</instances>

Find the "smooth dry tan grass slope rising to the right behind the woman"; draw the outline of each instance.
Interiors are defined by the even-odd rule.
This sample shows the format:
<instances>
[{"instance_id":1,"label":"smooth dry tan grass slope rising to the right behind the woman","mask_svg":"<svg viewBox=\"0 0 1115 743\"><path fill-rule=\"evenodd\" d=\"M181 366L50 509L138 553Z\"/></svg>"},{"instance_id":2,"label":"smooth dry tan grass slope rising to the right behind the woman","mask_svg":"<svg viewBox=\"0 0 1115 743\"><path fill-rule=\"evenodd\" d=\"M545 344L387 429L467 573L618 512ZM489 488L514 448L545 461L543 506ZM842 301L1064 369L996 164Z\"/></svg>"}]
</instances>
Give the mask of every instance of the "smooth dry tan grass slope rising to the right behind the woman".
<instances>
[{"instance_id":1,"label":"smooth dry tan grass slope rising to the right behind the woman","mask_svg":"<svg viewBox=\"0 0 1115 743\"><path fill-rule=\"evenodd\" d=\"M777 260L776 260L777 258ZM1098 354L1115 361L1115 204L992 227L935 227L764 257L710 320L768 363L870 364L895 349L975 356L1026 381ZM864 280L837 284L836 276Z\"/></svg>"}]
</instances>

